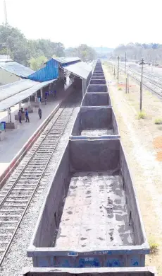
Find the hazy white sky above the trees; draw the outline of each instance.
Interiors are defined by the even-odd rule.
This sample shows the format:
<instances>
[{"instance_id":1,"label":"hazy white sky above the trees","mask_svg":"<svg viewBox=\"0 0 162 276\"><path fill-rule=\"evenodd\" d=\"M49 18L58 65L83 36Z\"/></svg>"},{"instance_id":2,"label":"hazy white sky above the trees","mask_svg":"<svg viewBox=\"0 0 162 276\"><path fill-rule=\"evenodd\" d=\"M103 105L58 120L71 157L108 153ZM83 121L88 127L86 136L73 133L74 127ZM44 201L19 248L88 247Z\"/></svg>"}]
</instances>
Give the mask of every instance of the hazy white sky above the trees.
<instances>
[{"instance_id":1,"label":"hazy white sky above the trees","mask_svg":"<svg viewBox=\"0 0 162 276\"><path fill-rule=\"evenodd\" d=\"M161 0L6 0L6 6L8 23L31 39L51 39L66 47L162 43Z\"/></svg>"}]
</instances>

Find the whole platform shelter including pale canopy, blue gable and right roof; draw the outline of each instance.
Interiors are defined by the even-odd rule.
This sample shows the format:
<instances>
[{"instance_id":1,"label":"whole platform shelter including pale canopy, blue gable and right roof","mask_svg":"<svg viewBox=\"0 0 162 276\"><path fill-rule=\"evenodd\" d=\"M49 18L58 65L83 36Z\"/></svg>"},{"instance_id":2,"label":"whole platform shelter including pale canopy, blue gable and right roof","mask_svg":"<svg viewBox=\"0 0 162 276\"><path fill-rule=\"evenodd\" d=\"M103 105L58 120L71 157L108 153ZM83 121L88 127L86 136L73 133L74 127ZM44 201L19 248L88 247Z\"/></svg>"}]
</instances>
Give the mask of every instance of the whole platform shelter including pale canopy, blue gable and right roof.
<instances>
[{"instance_id":1,"label":"whole platform shelter including pale canopy, blue gable and right roof","mask_svg":"<svg viewBox=\"0 0 162 276\"><path fill-rule=\"evenodd\" d=\"M63 90L67 76L71 84L82 88L84 96L91 75L92 66L82 62L79 57L59 57L50 59L42 69L32 71L32 74L22 77L20 81L0 86L0 112L8 111L7 127L14 128L11 118L13 105L19 103L21 108L22 102L26 101L28 111L33 112L33 104L38 107L46 91Z\"/></svg>"}]
</instances>

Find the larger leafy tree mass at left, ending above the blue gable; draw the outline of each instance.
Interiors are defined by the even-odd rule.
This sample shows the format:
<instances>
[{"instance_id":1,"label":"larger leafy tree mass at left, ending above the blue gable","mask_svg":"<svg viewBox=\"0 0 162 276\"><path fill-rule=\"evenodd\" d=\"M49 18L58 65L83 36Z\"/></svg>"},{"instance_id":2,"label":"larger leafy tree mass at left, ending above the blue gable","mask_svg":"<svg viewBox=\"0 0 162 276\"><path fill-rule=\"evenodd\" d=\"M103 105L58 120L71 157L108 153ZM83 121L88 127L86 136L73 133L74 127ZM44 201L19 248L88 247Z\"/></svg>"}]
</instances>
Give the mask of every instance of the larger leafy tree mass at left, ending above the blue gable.
<instances>
[{"instance_id":1,"label":"larger leafy tree mass at left, ending above the blue gable","mask_svg":"<svg viewBox=\"0 0 162 276\"><path fill-rule=\"evenodd\" d=\"M65 48L61 42L51 40L27 40L23 33L10 25L0 25L0 54L9 54L15 62L29 66L31 59L50 59L54 54L63 57ZM37 67L39 60L32 64Z\"/></svg>"}]
</instances>

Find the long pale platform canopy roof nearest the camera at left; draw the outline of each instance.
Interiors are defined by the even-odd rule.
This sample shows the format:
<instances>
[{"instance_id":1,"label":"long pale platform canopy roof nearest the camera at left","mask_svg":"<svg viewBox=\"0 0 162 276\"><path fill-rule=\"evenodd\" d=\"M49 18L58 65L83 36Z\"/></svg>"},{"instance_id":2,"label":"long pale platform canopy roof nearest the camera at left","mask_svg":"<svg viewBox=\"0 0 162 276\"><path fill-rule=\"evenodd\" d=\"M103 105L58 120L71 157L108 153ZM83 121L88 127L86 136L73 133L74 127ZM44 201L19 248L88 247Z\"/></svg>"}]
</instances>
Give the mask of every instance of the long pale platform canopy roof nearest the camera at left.
<instances>
[{"instance_id":1,"label":"long pale platform canopy roof nearest the camera at left","mask_svg":"<svg viewBox=\"0 0 162 276\"><path fill-rule=\"evenodd\" d=\"M0 86L0 112L6 110L7 108L11 108L11 106L16 105L17 103L20 103L20 101L25 100L25 98L32 96L32 94L40 88L51 84L53 81L56 81L56 79L41 83L24 79L16 81L15 83L17 84L6 84L6 87ZM7 93L8 98L6 98L6 96L2 96L4 93Z\"/></svg>"}]
</instances>

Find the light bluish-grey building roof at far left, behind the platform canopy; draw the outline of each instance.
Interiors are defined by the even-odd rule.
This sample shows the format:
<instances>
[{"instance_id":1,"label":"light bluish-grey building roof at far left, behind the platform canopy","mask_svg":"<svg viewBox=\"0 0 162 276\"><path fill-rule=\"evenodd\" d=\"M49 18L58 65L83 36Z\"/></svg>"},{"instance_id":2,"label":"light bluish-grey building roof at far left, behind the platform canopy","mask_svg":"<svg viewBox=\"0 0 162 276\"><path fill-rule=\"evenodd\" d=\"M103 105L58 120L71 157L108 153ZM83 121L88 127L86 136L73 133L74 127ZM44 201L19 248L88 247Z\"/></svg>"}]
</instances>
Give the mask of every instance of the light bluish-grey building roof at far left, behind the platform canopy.
<instances>
[{"instance_id":1,"label":"light bluish-grey building roof at far left, behind the platform canopy","mask_svg":"<svg viewBox=\"0 0 162 276\"><path fill-rule=\"evenodd\" d=\"M20 77L26 77L35 72L32 69L25 67L24 65L18 62L1 62L1 59L0 68Z\"/></svg>"}]
</instances>

